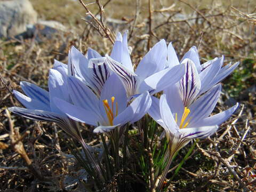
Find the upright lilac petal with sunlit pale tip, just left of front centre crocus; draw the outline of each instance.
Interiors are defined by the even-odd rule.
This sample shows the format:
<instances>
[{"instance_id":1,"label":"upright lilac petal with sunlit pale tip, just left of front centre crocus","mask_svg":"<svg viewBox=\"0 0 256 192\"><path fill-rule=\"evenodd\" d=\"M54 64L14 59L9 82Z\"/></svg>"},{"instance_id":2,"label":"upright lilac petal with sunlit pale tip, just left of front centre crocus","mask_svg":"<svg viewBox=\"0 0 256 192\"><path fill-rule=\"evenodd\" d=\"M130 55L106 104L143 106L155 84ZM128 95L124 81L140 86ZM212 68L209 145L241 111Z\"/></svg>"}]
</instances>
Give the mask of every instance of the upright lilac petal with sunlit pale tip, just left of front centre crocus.
<instances>
[{"instance_id":1,"label":"upright lilac petal with sunlit pale tip, just left of front centre crocus","mask_svg":"<svg viewBox=\"0 0 256 192\"><path fill-rule=\"evenodd\" d=\"M67 82L64 81L59 71L50 69L48 86L50 92L51 111L61 113L59 108L54 104L53 98L58 97L65 101L69 101Z\"/></svg>"}]
</instances>

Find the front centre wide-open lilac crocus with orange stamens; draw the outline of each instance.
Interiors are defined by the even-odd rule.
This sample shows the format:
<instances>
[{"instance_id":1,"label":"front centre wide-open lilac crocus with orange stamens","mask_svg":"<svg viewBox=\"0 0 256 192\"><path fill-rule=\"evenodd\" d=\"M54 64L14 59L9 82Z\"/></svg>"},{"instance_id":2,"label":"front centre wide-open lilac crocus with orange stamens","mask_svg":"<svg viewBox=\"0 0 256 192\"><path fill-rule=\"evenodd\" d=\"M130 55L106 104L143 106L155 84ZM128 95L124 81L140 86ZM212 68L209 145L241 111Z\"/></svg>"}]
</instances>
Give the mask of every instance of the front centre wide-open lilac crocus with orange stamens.
<instances>
[{"instance_id":1,"label":"front centre wide-open lilac crocus with orange stamens","mask_svg":"<svg viewBox=\"0 0 256 192\"><path fill-rule=\"evenodd\" d=\"M103 85L100 98L76 77L68 77L68 90L74 105L59 98L54 102L61 103L59 109L75 121L97 126L94 133L108 132L128 122L136 122L151 106L148 92L127 106L126 91L115 74L110 75Z\"/></svg>"}]
</instances>

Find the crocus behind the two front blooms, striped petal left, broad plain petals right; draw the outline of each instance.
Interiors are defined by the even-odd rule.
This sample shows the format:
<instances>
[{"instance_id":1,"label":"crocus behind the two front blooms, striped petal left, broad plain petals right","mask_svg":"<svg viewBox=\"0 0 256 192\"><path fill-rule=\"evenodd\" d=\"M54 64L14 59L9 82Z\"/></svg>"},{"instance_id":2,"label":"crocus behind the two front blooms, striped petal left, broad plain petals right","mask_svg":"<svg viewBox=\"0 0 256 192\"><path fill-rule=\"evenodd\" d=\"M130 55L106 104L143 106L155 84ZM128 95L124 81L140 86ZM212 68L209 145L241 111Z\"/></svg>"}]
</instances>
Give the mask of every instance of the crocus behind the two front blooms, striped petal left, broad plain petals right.
<instances>
[{"instance_id":1,"label":"crocus behind the two front blooms, striped petal left, broad plain petals right","mask_svg":"<svg viewBox=\"0 0 256 192\"><path fill-rule=\"evenodd\" d=\"M165 69L167 47L164 39L152 47L140 61L135 72L127 47L127 38L123 38L119 43L119 49L122 50L122 54L114 55L115 58L113 54L110 57L106 55L106 61L108 67L121 79L129 98L145 91L149 91L150 94L162 91L170 84L178 82L185 74L184 65Z\"/></svg>"}]
</instances>

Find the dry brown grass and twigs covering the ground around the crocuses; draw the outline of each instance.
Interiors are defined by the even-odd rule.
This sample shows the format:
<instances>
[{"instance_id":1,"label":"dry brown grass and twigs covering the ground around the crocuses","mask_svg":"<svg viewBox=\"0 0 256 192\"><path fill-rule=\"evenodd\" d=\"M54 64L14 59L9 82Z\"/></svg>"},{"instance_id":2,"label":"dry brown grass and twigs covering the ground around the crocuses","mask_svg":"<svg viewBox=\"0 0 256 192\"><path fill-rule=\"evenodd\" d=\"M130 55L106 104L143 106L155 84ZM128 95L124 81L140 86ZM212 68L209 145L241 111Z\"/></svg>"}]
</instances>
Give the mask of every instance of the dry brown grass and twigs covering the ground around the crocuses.
<instances>
[{"instance_id":1,"label":"dry brown grass and twigs covering the ground around the crocuses","mask_svg":"<svg viewBox=\"0 0 256 192\"><path fill-rule=\"evenodd\" d=\"M30 131L22 140L26 153L36 169L52 180L38 180L29 172L17 153L11 149L0 150L0 191L75 191L77 185L73 189L66 188L65 175L76 174L79 167L71 166L73 164L68 162L69 158L62 154L70 154L65 139L57 137L62 131L55 129L51 123L33 122L17 115L8 118L5 109L20 106L12 95L13 89L20 90L20 81L32 82L47 89L47 74L53 59L67 62L67 51L71 45L79 47L83 52L92 47L106 54L111 50L111 43L80 19L85 11L78 2L31 2L41 17L58 20L69 26L72 32L55 34L51 39L42 37L41 43L34 38L0 42L0 148L11 143L10 121L13 121L21 135ZM151 20L147 19L148 1L138 0L137 4L134 3L136 1L127 1L127 4L118 2L113 0L106 6L105 16L126 18L124 25L109 27L114 31L130 30L129 45L133 47L133 63L138 63L148 47L161 38L167 42L172 41L180 56L189 47L196 45L202 62L221 54L225 55L226 62L241 61L234 75L223 82L225 89L215 112L227 108L225 106L230 105L233 100L241 102L241 107L233 118L220 127L212 140L198 142L183 169L171 182L169 190L246 191L247 188L253 191L256 185L256 20L255 15L248 14L255 13L255 2L249 1L247 4L247 1L239 1L240 4L237 5L232 4L233 1L225 4L222 1L204 1L199 5L174 1L176 6L163 9L170 7L172 2L161 1L161 5L155 1L155 5L151 7L154 10ZM237 10L230 5L234 5ZM95 5L89 8L93 13L98 11ZM188 17L180 18L180 13L188 13ZM152 24L151 30L149 22ZM233 99L230 99L230 95ZM99 138L91 131L90 127L84 127L82 134L87 142L96 145ZM132 141L135 142L136 138L131 135ZM189 146L180 151L173 166L178 165L188 148ZM173 171L171 169L169 178ZM131 191L138 191L143 186L139 178L131 183L135 183L130 186ZM108 191L114 191L115 182L108 183L107 188Z\"/></svg>"}]
</instances>

